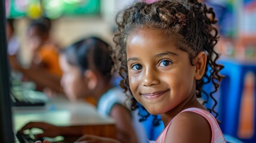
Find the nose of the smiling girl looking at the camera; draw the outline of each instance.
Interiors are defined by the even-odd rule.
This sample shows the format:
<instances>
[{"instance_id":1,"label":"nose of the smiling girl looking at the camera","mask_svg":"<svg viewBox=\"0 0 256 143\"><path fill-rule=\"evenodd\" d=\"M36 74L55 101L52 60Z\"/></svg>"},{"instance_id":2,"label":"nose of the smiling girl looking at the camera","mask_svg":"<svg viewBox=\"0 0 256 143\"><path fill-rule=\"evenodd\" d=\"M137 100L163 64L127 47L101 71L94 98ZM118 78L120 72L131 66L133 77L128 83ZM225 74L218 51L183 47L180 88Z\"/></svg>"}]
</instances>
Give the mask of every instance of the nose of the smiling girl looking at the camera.
<instances>
[{"instance_id":1,"label":"nose of the smiling girl looking at the camera","mask_svg":"<svg viewBox=\"0 0 256 143\"><path fill-rule=\"evenodd\" d=\"M158 85L158 73L153 69L146 69L143 73L143 86Z\"/></svg>"}]
</instances>

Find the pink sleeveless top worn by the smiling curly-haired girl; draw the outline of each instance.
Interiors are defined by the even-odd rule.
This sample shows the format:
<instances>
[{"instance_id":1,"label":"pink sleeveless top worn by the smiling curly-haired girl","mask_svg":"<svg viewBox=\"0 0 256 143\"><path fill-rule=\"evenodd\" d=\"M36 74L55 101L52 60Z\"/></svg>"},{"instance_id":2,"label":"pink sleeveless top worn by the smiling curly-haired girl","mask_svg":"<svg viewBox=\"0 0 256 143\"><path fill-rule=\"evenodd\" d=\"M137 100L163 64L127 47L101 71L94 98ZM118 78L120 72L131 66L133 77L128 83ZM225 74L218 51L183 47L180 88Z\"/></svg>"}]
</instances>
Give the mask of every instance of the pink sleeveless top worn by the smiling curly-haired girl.
<instances>
[{"instance_id":1,"label":"pink sleeveless top worn by the smiling curly-haired girl","mask_svg":"<svg viewBox=\"0 0 256 143\"><path fill-rule=\"evenodd\" d=\"M192 111L194 113L201 114L201 116L205 117L205 119L209 122L209 125L211 125L211 130L212 130L211 143L223 143L223 142L226 142L225 139L224 139L223 133L221 132L220 126L218 126L218 123L217 123L215 117L212 116L211 113L209 113L208 111L202 110L201 108L187 108L186 110L183 110L180 113L185 112L185 111ZM166 128L161 133L161 135L158 136L156 141L149 141L149 142L150 143L164 143L166 133L167 133L167 131L169 129L169 126L172 123L172 120L166 126Z\"/></svg>"}]
</instances>

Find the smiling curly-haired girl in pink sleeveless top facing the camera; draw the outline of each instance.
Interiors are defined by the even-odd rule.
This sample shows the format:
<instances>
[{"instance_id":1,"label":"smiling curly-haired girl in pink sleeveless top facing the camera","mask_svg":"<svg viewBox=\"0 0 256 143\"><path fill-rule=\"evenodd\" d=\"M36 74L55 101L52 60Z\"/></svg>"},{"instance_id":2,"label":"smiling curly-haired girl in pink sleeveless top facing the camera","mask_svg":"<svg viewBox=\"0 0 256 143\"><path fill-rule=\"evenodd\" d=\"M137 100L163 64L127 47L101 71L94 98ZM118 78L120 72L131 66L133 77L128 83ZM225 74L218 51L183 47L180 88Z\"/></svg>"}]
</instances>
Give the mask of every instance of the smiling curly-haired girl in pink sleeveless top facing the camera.
<instances>
[{"instance_id":1,"label":"smiling curly-haired girl in pink sleeveless top facing the camera","mask_svg":"<svg viewBox=\"0 0 256 143\"><path fill-rule=\"evenodd\" d=\"M212 8L196 0L137 2L117 21L115 69L132 109L140 102L150 114L161 114L165 129L155 142L226 142L197 100L204 78L215 90L223 79Z\"/></svg>"}]
</instances>

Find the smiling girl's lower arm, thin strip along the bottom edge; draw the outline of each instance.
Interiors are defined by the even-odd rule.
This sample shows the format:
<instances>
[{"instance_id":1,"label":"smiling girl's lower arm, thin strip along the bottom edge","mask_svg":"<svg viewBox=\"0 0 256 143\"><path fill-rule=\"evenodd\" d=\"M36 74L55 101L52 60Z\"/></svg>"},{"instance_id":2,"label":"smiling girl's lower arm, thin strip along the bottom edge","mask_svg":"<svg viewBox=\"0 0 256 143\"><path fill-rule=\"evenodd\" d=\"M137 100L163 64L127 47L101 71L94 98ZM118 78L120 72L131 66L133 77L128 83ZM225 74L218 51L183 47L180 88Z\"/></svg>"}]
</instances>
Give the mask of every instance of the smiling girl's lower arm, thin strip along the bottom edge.
<instances>
[{"instance_id":1,"label":"smiling girl's lower arm, thin strip along the bottom edge","mask_svg":"<svg viewBox=\"0 0 256 143\"><path fill-rule=\"evenodd\" d=\"M77 139L75 143L121 143L116 139L104 138L95 135L84 135L81 138Z\"/></svg>"}]
</instances>

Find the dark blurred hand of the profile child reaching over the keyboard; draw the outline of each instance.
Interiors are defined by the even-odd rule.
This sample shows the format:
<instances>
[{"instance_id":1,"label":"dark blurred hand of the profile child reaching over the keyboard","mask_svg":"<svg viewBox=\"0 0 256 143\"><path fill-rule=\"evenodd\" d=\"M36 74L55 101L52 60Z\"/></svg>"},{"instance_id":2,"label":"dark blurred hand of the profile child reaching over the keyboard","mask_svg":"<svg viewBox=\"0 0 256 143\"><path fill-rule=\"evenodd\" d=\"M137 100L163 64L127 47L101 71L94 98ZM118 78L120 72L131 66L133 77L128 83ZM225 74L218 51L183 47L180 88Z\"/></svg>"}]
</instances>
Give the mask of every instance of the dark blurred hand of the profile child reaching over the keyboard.
<instances>
[{"instance_id":1,"label":"dark blurred hand of the profile child reaching over the keyboard","mask_svg":"<svg viewBox=\"0 0 256 143\"><path fill-rule=\"evenodd\" d=\"M45 122L30 122L27 123L27 125L23 126L18 133L23 133L26 129L32 129L32 128L38 128L42 129L44 133L39 133L37 135L34 135L36 139L43 138L45 136L54 138L55 136L61 135L61 128L58 126L51 125L49 123ZM45 143L45 142L44 142Z\"/></svg>"}]
</instances>

